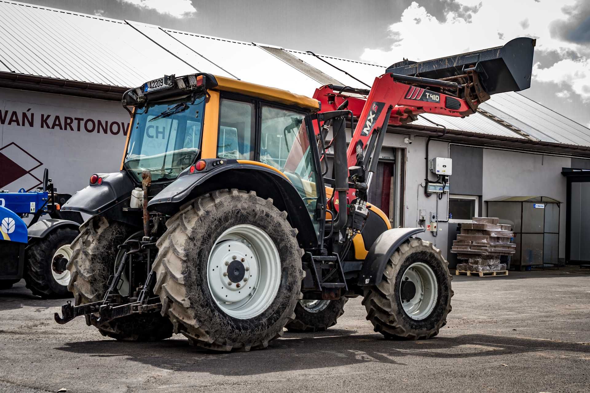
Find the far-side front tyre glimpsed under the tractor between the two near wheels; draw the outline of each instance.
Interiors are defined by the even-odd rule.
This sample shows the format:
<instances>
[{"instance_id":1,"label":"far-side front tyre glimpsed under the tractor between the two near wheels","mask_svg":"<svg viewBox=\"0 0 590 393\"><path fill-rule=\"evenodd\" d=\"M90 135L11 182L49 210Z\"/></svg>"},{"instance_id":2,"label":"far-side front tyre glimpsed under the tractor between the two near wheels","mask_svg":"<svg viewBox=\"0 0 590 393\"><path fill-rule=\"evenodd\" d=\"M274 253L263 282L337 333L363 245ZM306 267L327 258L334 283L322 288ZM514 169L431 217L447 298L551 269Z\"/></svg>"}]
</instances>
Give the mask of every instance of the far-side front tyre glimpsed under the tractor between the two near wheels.
<instances>
[{"instance_id":1,"label":"far-side front tyre glimpsed under the tractor between the two near wheels","mask_svg":"<svg viewBox=\"0 0 590 393\"><path fill-rule=\"evenodd\" d=\"M338 300L300 300L295 307L295 319L287 326L294 333L323 332L336 325L336 320L344 313L348 298Z\"/></svg>"}]
</instances>

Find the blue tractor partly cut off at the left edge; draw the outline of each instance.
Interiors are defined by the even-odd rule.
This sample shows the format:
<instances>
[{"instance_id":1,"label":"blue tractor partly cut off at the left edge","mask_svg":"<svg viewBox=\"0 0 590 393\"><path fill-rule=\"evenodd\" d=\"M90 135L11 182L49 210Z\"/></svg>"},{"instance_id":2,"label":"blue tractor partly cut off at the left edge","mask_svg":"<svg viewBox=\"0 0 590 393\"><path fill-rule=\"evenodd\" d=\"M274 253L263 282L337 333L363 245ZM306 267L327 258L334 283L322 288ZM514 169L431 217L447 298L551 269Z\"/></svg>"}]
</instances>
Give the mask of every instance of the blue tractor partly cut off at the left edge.
<instances>
[{"instance_id":1,"label":"blue tractor partly cut off at the left edge","mask_svg":"<svg viewBox=\"0 0 590 393\"><path fill-rule=\"evenodd\" d=\"M47 169L41 189L0 190L0 289L9 289L24 278L34 295L46 299L71 296L70 272L65 266L82 217L64 219L56 191ZM46 215L50 218L40 220ZM27 225L24 219L30 216Z\"/></svg>"}]
</instances>

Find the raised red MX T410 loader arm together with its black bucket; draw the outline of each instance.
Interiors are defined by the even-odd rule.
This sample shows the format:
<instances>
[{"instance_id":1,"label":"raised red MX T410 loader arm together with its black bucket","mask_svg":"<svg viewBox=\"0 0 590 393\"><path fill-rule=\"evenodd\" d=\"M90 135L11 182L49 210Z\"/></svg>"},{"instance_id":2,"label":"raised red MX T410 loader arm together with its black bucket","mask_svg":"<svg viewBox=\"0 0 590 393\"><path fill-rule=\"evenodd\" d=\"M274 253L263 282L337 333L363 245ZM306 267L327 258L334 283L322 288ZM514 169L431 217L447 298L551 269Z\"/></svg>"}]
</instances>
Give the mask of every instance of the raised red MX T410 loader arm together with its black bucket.
<instances>
[{"instance_id":1,"label":"raised red MX T410 loader arm together with its black bucket","mask_svg":"<svg viewBox=\"0 0 590 393\"><path fill-rule=\"evenodd\" d=\"M357 147L365 149L387 115L392 126L417 120L422 113L465 117L490 94L529 88L535 44L522 37L503 47L423 62L405 60L376 77L370 90L325 85L313 98L322 103L322 112L346 107L358 119L347 151L348 166L355 166L360 164ZM381 146L377 147L378 152Z\"/></svg>"}]
</instances>

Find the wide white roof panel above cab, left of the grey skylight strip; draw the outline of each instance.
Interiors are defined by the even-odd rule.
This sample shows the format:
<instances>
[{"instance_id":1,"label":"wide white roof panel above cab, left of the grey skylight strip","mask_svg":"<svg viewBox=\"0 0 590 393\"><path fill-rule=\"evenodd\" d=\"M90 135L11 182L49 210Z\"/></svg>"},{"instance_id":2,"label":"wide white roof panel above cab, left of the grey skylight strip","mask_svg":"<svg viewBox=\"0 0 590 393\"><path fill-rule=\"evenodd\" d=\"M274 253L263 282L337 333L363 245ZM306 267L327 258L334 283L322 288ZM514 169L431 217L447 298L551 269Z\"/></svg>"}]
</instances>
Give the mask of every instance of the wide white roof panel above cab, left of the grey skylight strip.
<instances>
[{"instance_id":1,"label":"wide white roof panel above cab, left of the grey skylight strip","mask_svg":"<svg viewBox=\"0 0 590 393\"><path fill-rule=\"evenodd\" d=\"M165 29L241 80L311 95L317 81L257 45Z\"/></svg>"}]
</instances>

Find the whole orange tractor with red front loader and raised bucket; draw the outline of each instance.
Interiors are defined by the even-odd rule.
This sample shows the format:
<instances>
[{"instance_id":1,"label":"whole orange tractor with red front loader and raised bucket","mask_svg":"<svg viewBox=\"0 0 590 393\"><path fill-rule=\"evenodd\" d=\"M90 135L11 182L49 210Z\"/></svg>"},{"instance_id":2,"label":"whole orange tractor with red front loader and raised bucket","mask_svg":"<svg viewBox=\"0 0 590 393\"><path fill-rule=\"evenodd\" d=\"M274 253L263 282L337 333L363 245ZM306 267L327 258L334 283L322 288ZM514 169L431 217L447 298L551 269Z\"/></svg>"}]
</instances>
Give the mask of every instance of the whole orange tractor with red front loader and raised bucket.
<instances>
[{"instance_id":1,"label":"whole orange tractor with red front loader and raised bucket","mask_svg":"<svg viewBox=\"0 0 590 393\"><path fill-rule=\"evenodd\" d=\"M285 327L329 328L363 296L386 337L437 335L451 311L447 262L414 237L424 228L391 229L367 191L389 125L465 116L489 94L528 87L513 75L530 83L534 41L517 40L510 56L458 55L446 72L432 64L441 59L417 63L420 77L398 64L371 90L329 85L314 98L204 73L128 90L120 171L93 174L62 207L92 217L67 265L75 304L55 320L85 316L121 340L182 333L248 351ZM346 121L357 119L347 150Z\"/></svg>"}]
</instances>

